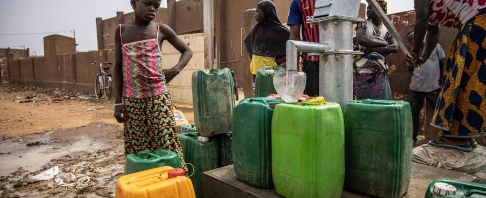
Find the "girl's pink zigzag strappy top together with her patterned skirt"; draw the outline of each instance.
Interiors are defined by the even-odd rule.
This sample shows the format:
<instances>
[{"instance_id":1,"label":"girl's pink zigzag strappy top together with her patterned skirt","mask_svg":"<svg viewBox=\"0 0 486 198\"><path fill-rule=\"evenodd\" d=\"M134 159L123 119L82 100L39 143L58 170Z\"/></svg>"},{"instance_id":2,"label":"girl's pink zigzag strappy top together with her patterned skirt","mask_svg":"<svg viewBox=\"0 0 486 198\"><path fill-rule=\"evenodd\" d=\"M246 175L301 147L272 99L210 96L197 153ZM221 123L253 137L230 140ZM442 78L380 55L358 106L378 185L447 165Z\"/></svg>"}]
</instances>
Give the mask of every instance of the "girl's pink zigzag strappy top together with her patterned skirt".
<instances>
[{"instance_id":1,"label":"girl's pink zigzag strappy top together with her patterned skirt","mask_svg":"<svg viewBox=\"0 0 486 198\"><path fill-rule=\"evenodd\" d=\"M155 39L127 44L122 39L123 102L127 111L123 125L125 154L145 149L172 150L179 154L187 171L176 131L173 101L162 71L158 35L159 27Z\"/></svg>"}]
</instances>

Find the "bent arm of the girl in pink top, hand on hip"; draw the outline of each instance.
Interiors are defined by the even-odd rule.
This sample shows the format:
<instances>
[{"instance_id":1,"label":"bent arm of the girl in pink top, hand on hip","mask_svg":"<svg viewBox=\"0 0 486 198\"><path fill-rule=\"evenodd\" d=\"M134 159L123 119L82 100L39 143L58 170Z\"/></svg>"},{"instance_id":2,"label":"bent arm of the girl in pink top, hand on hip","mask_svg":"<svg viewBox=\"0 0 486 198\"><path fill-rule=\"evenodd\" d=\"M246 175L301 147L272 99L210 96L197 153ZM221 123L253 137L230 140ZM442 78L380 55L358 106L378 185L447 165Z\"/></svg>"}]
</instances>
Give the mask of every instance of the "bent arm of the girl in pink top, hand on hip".
<instances>
[{"instance_id":1,"label":"bent arm of the girl in pink top, hand on hip","mask_svg":"<svg viewBox=\"0 0 486 198\"><path fill-rule=\"evenodd\" d=\"M182 39L180 39L174 30L165 24L160 25L160 31L164 33L164 39L167 40L174 48L181 52L179 62L170 69L164 69L163 72L166 77L166 82L169 83L176 77L182 69L187 65L192 57L192 50L187 46Z\"/></svg>"}]
</instances>

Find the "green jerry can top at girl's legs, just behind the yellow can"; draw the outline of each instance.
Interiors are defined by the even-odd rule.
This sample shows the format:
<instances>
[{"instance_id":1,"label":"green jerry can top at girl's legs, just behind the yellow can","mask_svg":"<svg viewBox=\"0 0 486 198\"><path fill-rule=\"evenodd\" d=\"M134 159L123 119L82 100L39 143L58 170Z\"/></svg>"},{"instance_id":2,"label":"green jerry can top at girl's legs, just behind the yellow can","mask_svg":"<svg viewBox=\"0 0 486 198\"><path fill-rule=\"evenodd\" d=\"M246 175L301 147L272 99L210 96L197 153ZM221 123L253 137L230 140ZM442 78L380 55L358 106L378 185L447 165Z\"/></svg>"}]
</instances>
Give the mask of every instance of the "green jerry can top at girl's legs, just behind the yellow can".
<instances>
[{"instance_id":1,"label":"green jerry can top at girl's legs, just behind the yellow can","mask_svg":"<svg viewBox=\"0 0 486 198\"><path fill-rule=\"evenodd\" d=\"M124 174L127 175L161 166L181 167L181 159L177 153L162 148L153 152L142 150L138 152L138 155L126 155Z\"/></svg>"}]
</instances>

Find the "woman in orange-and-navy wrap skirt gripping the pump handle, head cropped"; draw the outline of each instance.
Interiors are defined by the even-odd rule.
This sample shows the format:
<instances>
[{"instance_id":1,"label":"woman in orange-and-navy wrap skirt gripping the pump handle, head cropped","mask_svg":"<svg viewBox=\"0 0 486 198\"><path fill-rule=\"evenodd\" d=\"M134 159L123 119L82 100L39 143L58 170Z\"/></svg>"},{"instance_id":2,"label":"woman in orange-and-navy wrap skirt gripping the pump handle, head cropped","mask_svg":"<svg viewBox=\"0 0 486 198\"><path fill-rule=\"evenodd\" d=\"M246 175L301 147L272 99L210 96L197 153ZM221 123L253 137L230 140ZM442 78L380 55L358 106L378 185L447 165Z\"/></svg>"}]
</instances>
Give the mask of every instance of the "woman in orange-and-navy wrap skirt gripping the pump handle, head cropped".
<instances>
[{"instance_id":1,"label":"woman in orange-and-navy wrap skirt gripping the pump handle, head cropped","mask_svg":"<svg viewBox=\"0 0 486 198\"><path fill-rule=\"evenodd\" d=\"M440 38L439 25L458 29L447 57L445 81L431 125L441 129L429 144L471 151L475 137L486 136L486 0L415 0L412 57L421 65ZM425 36L426 32L426 36Z\"/></svg>"}]
</instances>

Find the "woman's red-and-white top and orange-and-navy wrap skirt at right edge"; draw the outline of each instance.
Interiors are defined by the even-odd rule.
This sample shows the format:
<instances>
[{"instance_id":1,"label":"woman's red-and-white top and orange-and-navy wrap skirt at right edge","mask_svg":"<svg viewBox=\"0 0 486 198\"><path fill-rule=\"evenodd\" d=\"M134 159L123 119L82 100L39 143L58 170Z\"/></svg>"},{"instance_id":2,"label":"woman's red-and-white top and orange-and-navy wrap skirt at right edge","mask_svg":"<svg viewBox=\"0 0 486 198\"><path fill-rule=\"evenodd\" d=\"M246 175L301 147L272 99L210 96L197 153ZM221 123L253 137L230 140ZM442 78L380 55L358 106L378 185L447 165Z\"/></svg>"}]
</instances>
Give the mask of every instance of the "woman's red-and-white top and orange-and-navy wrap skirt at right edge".
<instances>
[{"instance_id":1,"label":"woman's red-and-white top and orange-and-navy wrap skirt at right edge","mask_svg":"<svg viewBox=\"0 0 486 198\"><path fill-rule=\"evenodd\" d=\"M429 23L457 27L431 124L446 137L486 136L486 0L430 0Z\"/></svg>"}]
</instances>

